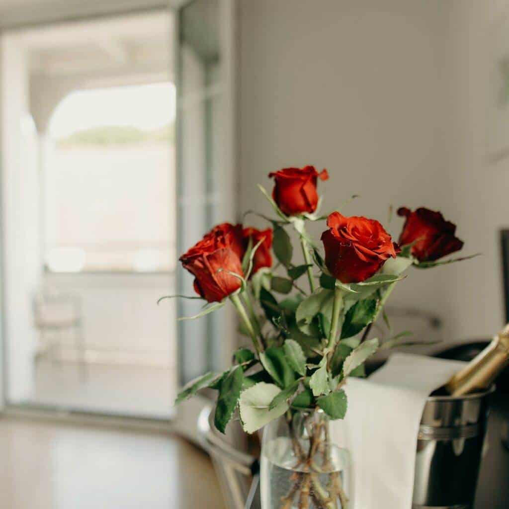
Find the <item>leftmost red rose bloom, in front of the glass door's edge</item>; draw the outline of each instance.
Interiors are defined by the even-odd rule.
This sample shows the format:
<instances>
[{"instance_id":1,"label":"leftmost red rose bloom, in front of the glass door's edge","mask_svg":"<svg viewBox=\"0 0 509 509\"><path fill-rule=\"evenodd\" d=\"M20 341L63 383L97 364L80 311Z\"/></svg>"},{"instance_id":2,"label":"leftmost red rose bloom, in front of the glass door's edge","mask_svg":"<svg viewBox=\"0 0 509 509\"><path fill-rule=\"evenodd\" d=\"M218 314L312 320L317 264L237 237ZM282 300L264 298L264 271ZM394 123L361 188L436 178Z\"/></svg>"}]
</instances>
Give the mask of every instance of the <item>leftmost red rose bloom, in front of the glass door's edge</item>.
<instances>
[{"instance_id":1,"label":"leftmost red rose bloom, in front of the glass door's edge","mask_svg":"<svg viewBox=\"0 0 509 509\"><path fill-rule=\"evenodd\" d=\"M237 234L238 227L219 224L179 258L194 275L194 290L208 302L218 302L241 286L240 279L229 273L244 276L239 257L243 252L242 239L239 243Z\"/></svg>"}]
</instances>

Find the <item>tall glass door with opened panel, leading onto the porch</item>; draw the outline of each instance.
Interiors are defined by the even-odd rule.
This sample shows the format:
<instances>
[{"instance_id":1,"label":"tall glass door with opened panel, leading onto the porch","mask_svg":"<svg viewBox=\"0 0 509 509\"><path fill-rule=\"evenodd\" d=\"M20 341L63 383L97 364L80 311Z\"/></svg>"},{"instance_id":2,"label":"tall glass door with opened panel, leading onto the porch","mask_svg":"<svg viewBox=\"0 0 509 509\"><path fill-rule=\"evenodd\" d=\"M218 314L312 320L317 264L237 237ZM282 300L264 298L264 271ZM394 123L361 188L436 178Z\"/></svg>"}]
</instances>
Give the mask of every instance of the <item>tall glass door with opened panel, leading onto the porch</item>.
<instances>
[{"instance_id":1,"label":"tall glass door with opened panel, leading onto the porch","mask_svg":"<svg viewBox=\"0 0 509 509\"><path fill-rule=\"evenodd\" d=\"M156 300L193 293L179 254L235 219L234 4L2 34L9 405L168 419L227 365L228 311Z\"/></svg>"}]
</instances>

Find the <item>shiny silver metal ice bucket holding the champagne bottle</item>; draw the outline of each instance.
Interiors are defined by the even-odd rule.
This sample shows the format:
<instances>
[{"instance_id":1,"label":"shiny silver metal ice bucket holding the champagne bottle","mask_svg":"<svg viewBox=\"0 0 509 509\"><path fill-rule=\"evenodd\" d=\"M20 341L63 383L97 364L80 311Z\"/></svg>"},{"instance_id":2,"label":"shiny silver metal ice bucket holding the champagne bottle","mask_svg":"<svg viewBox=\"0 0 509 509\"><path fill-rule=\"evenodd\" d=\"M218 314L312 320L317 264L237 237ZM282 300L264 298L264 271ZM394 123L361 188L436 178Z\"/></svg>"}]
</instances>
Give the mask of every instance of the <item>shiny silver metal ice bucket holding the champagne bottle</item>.
<instances>
[{"instance_id":1,"label":"shiny silver metal ice bucket holding the champagne bottle","mask_svg":"<svg viewBox=\"0 0 509 509\"><path fill-rule=\"evenodd\" d=\"M413 509L471 509L494 390L428 398L417 436Z\"/></svg>"}]
</instances>

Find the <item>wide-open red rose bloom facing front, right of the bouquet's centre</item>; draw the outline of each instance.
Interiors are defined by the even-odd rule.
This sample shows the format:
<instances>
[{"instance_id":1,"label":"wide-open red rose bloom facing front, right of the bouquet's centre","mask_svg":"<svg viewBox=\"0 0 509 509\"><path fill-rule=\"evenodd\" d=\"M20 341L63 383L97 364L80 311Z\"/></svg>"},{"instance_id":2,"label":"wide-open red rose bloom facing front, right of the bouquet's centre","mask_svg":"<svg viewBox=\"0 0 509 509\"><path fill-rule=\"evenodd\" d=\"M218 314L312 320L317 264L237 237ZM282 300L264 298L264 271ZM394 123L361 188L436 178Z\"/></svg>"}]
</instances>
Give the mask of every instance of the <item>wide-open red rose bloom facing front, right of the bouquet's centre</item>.
<instances>
[{"instance_id":1,"label":"wide-open red rose bloom facing front, right of the bouquet's centre","mask_svg":"<svg viewBox=\"0 0 509 509\"><path fill-rule=\"evenodd\" d=\"M399 247L374 219L345 217L332 212L322 233L325 265L344 283L361 282L375 274L385 261L395 258Z\"/></svg>"}]
</instances>

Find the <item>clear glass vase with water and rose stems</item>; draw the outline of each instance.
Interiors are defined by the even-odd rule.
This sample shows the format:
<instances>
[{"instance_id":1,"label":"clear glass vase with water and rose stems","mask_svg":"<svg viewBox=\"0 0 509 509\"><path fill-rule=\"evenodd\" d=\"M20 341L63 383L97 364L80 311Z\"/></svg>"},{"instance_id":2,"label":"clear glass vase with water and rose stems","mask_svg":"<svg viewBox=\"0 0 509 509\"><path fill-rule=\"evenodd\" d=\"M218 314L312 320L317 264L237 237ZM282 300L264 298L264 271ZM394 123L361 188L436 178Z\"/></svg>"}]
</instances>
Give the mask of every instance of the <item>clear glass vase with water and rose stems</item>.
<instances>
[{"instance_id":1,"label":"clear glass vase with water and rose stems","mask_svg":"<svg viewBox=\"0 0 509 509\"><path fill-rule=\"evenodd\" d=\"M351 462L321 410L289 410L263 431L262 509L352 509Z\"/></svg>"}]
</instances>

